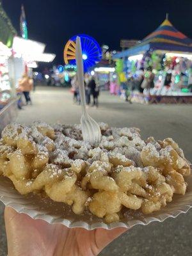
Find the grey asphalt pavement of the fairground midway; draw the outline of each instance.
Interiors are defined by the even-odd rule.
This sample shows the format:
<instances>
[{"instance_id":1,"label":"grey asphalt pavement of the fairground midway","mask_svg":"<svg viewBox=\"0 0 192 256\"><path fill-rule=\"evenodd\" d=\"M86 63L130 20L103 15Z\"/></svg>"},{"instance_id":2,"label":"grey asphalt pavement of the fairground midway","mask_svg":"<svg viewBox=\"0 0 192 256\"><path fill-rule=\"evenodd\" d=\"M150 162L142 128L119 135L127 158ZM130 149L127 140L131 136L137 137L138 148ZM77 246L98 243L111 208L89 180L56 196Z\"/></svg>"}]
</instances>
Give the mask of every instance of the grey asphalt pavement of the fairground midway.
<instances>
[{"instance_id":1,"label":"grey asphalt pavement of the fairground midway","mask_svg":"<svg viewBox=\"0 0 192 256\"><path fill-rule=\"evenodd\" d=\"M17 122L33 120L48 123L77 124L81 107L72 103L72 94L63 88L37 87L31 93L32 106L19 111ZM115 127L139 127L143 138L172 137L192 161L192 105L129 104L108 92L101 92L99 108L89 108L99 122ZM0 204L0 256L6 256L3 205ZM109 244L100 256L189 256L192 255L192 210L163 223L137 225ZM25 256L25 255L21 255ZM39 255L40 256L40 255Z\"/></svg>"}]
</instances>

